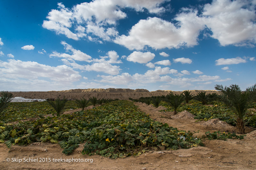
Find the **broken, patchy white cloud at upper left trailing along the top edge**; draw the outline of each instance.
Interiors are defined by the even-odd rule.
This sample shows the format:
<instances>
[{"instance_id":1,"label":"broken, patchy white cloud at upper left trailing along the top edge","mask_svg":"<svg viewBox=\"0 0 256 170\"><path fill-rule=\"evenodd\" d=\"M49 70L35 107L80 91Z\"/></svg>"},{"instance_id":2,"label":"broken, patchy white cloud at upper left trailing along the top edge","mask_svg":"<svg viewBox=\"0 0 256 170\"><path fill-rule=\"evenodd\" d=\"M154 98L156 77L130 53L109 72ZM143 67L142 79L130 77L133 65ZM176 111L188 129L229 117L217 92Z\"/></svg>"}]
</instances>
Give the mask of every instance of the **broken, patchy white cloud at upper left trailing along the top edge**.
<instances>
[{"instance_id":1,"label":"broken, patchy white cloud at upper left trailing along the top edge","mask_svg":"<svg viewBox=\"0 0 256 170\"><path fill-rule=\"evenodd\" d=\"M118 33L113 25L116 25L117 20L127 17L122 11L124 8L132 8L136 11L147 9L150 13L160 13L165 11L164 7L160 7L164 1L94 0L76 4L72 9L58 3L58 10L52 9L42 26L74 40L87 37L91 41L101 42L98 38L109 41ZM72 27L75 31L71 31Z\"/></svg>"}]
</instances>

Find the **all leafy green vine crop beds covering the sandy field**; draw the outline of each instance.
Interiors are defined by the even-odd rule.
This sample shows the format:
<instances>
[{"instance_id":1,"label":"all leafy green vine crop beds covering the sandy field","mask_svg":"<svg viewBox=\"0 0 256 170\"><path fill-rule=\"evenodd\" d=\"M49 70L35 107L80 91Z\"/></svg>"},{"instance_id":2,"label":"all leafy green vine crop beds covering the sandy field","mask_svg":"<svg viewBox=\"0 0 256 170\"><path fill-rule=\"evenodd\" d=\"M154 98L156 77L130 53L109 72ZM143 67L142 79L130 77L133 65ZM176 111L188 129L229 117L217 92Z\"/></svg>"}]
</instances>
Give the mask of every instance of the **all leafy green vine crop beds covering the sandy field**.
<instances>
[{"instance_id":1,"label":"all leafy green vine crop beds covering the sandy field","mask_svg":"<svg viewBox=\"0 0 256 170\"><path fill-rule=\"evenodd\" d=\"M208 120L220 118L233 124L232 112L222 103L215 106L201 105L194 100L183 103L179 111L188 110L196 118ZM161 102L172 111L166 102ZM74 101L68 101L65 110L77 109ZM58 117L42 117L55 114L47 102L10 103L4 110L6 116L0 123L0 143L7 147L28 145L33 142L58 143L63 153L70 154L79 144L84 143L83 154L100 154L109 158L139 156L147 149L190 148L203 146L202 140L188 131L178 131L168 124L152 120L149 115L137 109L132 102L118 100ZM28 118L30 121L19 121ZM250 125L255 127L255 113L251 113ZM13 121L19 121L12 124ZM206 133L207 138L240 138L236 134Z\"/></svg>"}]
</instances>

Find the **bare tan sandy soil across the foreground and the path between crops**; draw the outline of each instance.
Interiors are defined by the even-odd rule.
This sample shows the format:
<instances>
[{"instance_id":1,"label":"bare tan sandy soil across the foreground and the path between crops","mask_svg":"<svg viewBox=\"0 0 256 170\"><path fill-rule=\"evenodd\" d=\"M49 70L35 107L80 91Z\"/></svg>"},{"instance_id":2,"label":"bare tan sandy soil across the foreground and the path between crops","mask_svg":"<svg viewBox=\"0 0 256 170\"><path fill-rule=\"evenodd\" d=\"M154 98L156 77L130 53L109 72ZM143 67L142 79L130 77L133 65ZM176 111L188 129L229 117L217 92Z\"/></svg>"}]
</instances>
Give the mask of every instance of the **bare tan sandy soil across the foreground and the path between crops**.
<instances>
[{"instance_id":1,"label":"bare tan sandy soil across the foreground and the path between crops","mask_svg":"<svg viewBox=\"0 0 256 170\"><path fill-rule=\"evenodd\" d=\"M156 109L145 103L135 104L159 122L167 123L179 130L199 130L199 133L195 134L197 136L202 136L206 131L235 131L233 126L218 119L195 122L193 115L186 111L173 116L172 112L159 112L158 110L163 109L161 107ZM250 131L251 129L246 129L246 132ZM62 148L58 144L47 142L36 142L28 146L14 145L11 149L5 144L0 144L0 169L256 169L256 131L248 133L242 140L204 140L204 145L176 151L148 151L137 158L131 156L124 159L109 159L99 155L82 155L83 144L68 156L62 153ZM32 162L28 158L35 160ZM58 159L70 159L71 162L58 162ZM84 162L81 162L81 159Z\"/></svg>"}]
</instances>

